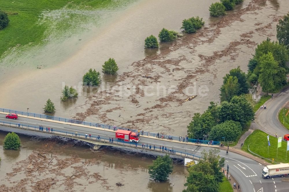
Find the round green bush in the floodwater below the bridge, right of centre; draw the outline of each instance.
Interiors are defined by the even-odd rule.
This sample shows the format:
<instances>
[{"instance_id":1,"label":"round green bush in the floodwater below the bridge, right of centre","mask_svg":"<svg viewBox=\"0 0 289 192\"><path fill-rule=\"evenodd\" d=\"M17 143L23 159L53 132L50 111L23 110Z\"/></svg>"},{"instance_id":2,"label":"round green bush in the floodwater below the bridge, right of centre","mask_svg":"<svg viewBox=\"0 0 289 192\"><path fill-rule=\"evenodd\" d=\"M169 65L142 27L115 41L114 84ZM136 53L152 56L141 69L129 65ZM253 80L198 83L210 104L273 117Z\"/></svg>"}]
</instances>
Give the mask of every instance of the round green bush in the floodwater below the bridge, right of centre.
<instances>
[{"instance_id":1,"label":"round green bush in the floodwater below the bridge, right of centre","mask_svg":"<svg viewBox=\"0 0 289 192\"><path fill-rule=\"evenodd\" d=\"M149 165L149 177L156 181L166 181L173 172L173 160L169 155L158 156L152 165Z\"/></svg>"}]
</instances>

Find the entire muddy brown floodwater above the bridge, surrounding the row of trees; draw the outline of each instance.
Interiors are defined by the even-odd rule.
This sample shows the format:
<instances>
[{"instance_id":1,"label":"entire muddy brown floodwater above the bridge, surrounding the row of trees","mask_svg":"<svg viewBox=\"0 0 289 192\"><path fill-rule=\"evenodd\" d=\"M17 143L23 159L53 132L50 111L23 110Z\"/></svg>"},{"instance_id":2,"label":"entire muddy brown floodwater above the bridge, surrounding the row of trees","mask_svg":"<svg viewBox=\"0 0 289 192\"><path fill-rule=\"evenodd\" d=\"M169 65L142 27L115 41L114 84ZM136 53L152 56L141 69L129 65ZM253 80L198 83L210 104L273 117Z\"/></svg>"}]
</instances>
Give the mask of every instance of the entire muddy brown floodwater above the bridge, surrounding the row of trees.
<instances>
[{"instance_id":1,"label":"entire muddy brown floodwater above the bridge, surrounding the row of trees","mask_svg":"<svg viewBox=\"0 0 289 192\"><path fill-rule=\"evenodd\" d=\"M63 62L5 74L0 106L42 113L50 98L55 116L185 135L193 114L219 101L222 77L237 66L247 71L257 43L266 37L275 40L277 21L289 10L285 0L245 0L227 15L212 18L212 2L140 0L88 34L87 43ZM144 51L145 37L157 36L163 27L180 31L182 20L191 16L205 21L197 33ZM118 76L103 76L100 87L81 86L83 74L90 67L101 71L109 57L119 65ZM61 102L63 84L75 86L79 98ZM198 96L180 103L192 95Z\"/></svg>"}]
</instances>

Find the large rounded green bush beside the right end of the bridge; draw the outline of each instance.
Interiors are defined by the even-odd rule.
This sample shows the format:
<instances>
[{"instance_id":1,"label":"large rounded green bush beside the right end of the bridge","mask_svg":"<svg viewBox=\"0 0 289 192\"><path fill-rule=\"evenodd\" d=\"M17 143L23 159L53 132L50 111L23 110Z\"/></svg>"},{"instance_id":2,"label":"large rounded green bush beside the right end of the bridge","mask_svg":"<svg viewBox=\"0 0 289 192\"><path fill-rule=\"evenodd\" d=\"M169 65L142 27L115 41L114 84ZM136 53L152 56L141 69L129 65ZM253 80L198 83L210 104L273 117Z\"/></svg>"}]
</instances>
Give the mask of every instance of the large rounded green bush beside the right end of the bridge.
<instances>
[{"instance_id":1,"label":"large rounded green bush beside the right end of the bridge","mask_svg":"<svg viewBox=\"0 0 289 192\"><path fill-rule=\"evenodd\" d=\"M218 124L211 129L210 139L214 141L222 141L222 137L225 137L225 141L236 140L242 131L242 126L236 121L225 121Z\"/></svg>"}]
</instances>

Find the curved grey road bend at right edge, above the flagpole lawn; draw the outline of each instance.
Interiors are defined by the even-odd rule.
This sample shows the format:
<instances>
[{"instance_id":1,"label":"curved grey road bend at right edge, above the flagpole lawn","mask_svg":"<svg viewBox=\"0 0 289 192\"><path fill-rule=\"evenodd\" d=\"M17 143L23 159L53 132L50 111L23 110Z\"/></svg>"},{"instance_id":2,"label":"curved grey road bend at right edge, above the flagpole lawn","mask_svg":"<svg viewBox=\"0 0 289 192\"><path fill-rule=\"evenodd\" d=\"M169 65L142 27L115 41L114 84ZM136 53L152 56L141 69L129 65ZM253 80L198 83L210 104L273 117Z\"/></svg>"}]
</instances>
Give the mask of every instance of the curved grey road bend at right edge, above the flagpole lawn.
<instances>
[{"instance_id":1,"label":"curved grey road bend at right edge, above the flagpole lawn","mask_svg":"<svg viewBox=\"0 0 289 192\"><path fill-rule=\"evenodd\" d=\"M289 88L282 91L276 98L270 99L266 105L267 109L259 111L255 122L257 128L266 133L278 137L283 137L289 131L285 129L278 121L278 112L282 106L289 100Z\"/></svg>"}]
</instances>

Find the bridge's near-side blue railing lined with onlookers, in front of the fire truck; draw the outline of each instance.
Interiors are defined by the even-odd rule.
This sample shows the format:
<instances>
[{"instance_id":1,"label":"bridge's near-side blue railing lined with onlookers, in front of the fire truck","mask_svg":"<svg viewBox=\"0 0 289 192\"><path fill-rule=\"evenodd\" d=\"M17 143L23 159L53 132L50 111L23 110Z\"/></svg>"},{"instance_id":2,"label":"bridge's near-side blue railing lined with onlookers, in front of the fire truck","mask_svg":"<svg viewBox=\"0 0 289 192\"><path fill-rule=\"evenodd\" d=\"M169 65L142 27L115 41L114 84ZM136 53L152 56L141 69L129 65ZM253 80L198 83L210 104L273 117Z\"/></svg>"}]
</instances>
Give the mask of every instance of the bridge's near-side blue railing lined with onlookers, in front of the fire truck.
<instances>
[{"instance_id":1,"label":"bridge's near-side blue railing lined with onlookers, in front of the fire truck","mask_svg":"<svg viewBox=\"0 0 289 192\"><path fill-rule=\"evenodd\" d=\"M73 132L69 132L69 131L60 131L57 129L48 129L48 128L46 129L46 127L43 127L43 131L42 131L42 129L40 129L40 127L31 126L31 125L24 125L24 124L20 124L20 123L0 121L0 124L1 125L8 125L10 127L17 127L17 128L22 128L22 129L39 131L39 132L58 134L58 135L63 135L64 137L65 136L73 137L75 139L82 138L82 139L90 140L90 141L97 141L97 142L103 142L103 143L114 143L114 144L121 145L121 146L140 147L142 149L161 151L164 153L175 154L175 155L179 155L182 157L189 157L189 158L197 159L197 160L201 159L201 157L199 157L197 155L193 155L193 154L186 153L183 151L169 150L169 149L165 150L165 148L162 148L162 146L151 146L151 145L143 145L143 144L139 144L139 143L125 142L125 141L117 140L115 138L112 140L112 138L98 137L95 135L84 135L84 134L73 133Z\"/></svg>"}]
</instances>

